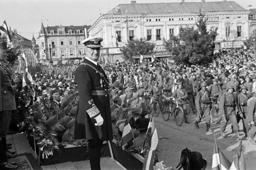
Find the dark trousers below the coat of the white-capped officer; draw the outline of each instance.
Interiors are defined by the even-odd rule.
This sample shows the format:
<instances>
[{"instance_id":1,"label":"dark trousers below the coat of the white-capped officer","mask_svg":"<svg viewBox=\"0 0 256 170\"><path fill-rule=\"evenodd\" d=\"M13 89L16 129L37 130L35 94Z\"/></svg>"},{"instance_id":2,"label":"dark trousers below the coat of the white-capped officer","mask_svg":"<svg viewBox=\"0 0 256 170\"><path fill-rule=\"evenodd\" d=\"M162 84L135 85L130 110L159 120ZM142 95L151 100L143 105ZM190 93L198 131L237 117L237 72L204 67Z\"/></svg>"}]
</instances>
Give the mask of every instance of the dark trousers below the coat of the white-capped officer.
<instances>
[{"instance_id":1,"label":"dark trousers below the coat of the white-capped officer","mask_svg":"<svg viewBox=\"0 0 256 170\"><path fill-rule=\"evenodd\" d=\"M88 140L89 147L89 159L91 170L100 170L101 169L101 146L103 141L100 139L91 139Z\"/></svg>"}]
</instances>

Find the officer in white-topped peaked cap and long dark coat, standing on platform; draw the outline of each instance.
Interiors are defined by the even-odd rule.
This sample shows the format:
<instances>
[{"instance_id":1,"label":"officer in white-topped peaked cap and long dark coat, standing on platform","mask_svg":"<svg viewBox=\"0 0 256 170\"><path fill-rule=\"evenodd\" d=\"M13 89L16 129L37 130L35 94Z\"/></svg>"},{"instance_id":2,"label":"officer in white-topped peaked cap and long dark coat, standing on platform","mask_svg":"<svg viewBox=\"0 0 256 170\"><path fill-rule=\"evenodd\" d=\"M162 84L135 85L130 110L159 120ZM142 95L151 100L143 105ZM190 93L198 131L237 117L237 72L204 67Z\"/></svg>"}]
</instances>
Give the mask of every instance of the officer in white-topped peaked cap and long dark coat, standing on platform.
<instances>
[{"instance_id":1,"label":"officer in white-topped peaked cap and long dark coat, standing on platform","mask_svg":"<svg viewBox=\"0 0 256 170\"><path fill-rule=\"evenodd\" d=\"M86 57L75 71L79 92L79 106L75 120L75 139L87 139L92 170L100 170L103 141L112 140L110 111L110 85L107 76L98 64L102 47L101 37L90 37L85 44Z\"/></svg>"}]
</instances>

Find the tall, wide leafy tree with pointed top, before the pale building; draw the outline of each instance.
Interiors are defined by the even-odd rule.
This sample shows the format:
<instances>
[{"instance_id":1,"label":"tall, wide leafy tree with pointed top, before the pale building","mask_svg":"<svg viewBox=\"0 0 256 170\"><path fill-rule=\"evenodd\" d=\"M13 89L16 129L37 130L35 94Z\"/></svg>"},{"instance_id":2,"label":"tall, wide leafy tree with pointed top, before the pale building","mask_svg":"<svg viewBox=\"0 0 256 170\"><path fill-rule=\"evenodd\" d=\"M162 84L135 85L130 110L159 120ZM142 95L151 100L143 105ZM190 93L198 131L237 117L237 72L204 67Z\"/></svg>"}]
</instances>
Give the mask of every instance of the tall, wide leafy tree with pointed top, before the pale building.
<instances>
[{"instance_id":1,"label":"tall, wide leafy tree with pointed top, before the pale building","mask_svg":"<svg viewBox=\"0 0 256 170\"><path fill-rule=\"evenodd\" d=\"M164 46L177 64L207 64L213 59L217 28L207 31L204 14L198 15L198 23L193 27L180 27L180 33L164 40Z\"/></svg>"}]
</instances>

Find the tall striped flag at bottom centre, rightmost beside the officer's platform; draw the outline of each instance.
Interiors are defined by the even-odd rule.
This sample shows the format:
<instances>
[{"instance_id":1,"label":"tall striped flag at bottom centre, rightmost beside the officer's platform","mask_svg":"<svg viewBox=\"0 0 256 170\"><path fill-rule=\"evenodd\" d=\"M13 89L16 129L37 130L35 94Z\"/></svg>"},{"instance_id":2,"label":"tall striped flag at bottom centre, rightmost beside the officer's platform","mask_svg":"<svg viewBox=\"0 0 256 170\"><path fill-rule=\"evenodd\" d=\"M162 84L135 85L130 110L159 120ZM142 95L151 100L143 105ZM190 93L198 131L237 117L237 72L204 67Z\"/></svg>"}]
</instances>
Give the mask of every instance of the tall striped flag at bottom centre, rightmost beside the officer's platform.
<instances>
[{"instance_id":1,"label":"tall striped flag at bottom centre, rightmost beside the officer's platform","mask_svg":"<svg viewBox=\"0 0 256 170\"><path fill-rule=\"evenodd\" d=\"M151 115L150 123L148 124L148 132L151 132L151 146L150 150L147 152L142 170L151 170L153 169L154 159L155 159L155 149L158 145L158 135L157 129L155 128L155 121L153 115Z\"/></svg>"}]
</instances>

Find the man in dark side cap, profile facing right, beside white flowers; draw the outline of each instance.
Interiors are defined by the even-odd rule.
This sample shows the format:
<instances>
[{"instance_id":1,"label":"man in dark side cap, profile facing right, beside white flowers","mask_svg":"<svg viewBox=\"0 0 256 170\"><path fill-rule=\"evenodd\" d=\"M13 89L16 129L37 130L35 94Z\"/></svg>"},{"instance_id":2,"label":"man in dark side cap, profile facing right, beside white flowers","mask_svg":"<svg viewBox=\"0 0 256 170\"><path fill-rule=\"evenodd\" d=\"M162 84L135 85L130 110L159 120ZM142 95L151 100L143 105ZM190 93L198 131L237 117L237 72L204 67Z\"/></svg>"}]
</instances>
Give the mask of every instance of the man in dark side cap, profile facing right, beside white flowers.
<instances>
[{"instance_id":1,"label":"man in dark side cap, profile facing right, beside white flowers","mask_svg":"<svg viewBox=\"0 0 256 170\"><path fill-rule=\"evenodd\" d=\"M58 122L58 116L54 115L52 117L50 117L46 123L45 123L45 127L47 129L48 135L47 137L51 137L54 140L54 144L58 145L59 141L57 139L57 135L59 132L61 132L61 125Z\"/></svg>"}]
</instances>

